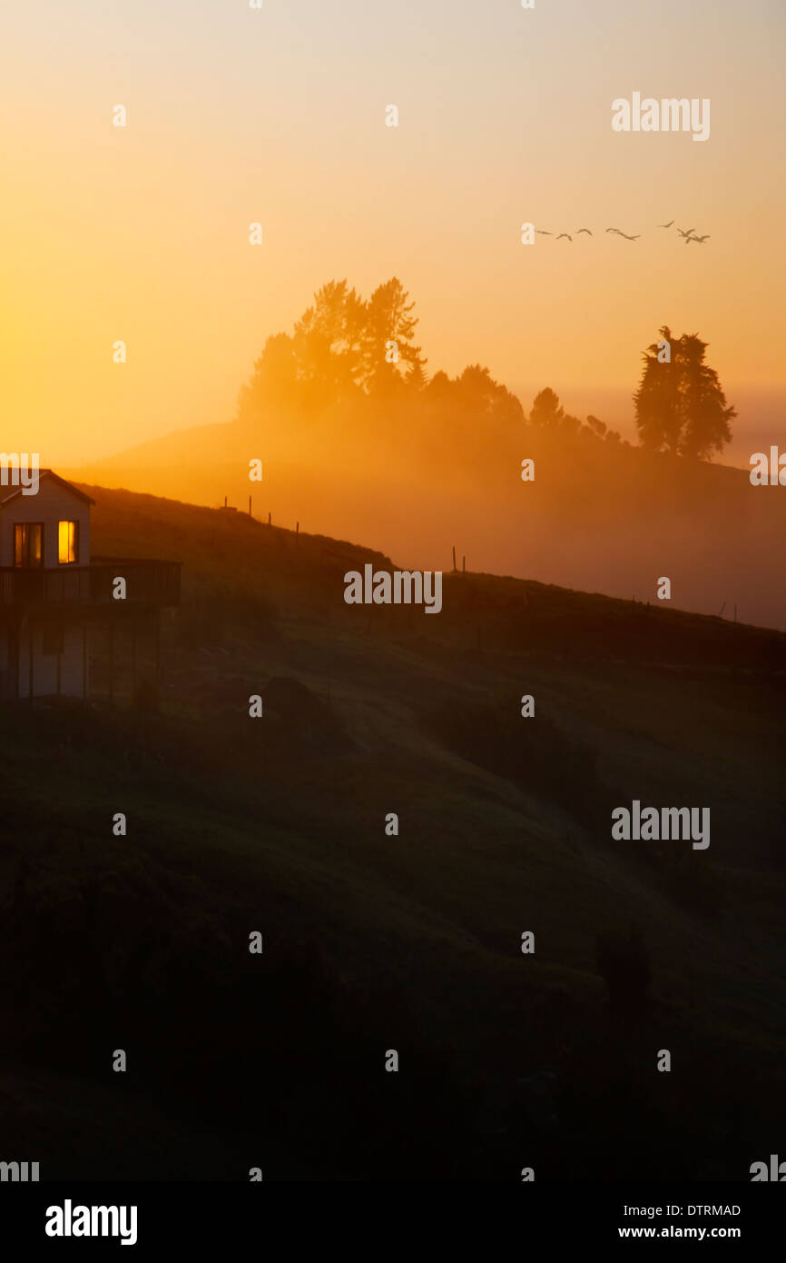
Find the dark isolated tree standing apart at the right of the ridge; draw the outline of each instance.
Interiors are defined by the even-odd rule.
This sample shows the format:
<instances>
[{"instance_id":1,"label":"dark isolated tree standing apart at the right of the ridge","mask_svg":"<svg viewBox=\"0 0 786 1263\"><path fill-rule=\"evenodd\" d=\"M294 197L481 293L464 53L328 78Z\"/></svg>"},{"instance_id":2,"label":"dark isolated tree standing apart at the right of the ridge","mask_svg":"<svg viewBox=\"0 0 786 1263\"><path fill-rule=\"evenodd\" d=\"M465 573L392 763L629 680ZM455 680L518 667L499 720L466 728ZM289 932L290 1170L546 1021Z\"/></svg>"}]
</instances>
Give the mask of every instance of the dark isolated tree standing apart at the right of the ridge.
<instances>
[{"instance_id":1,"label":"dark isolated tree standing apart at the right of the ridge","mask_svg":"<svg viewBox=\"0 0 786 1263\"><path fill-rule=\"evenodd\" d=\"M638 442L655 452L707 460L730 442L729 422L737 412L727 405L718 374L704 362L708 344L695 333L675 338L667 325L659 333L660 342L642 352L633 395Z\"/></svg>"}]
</instances>

